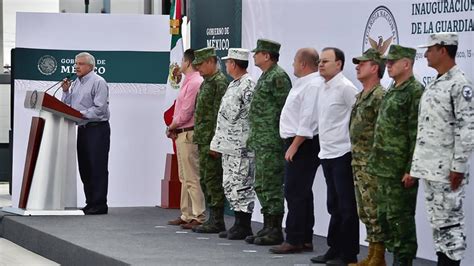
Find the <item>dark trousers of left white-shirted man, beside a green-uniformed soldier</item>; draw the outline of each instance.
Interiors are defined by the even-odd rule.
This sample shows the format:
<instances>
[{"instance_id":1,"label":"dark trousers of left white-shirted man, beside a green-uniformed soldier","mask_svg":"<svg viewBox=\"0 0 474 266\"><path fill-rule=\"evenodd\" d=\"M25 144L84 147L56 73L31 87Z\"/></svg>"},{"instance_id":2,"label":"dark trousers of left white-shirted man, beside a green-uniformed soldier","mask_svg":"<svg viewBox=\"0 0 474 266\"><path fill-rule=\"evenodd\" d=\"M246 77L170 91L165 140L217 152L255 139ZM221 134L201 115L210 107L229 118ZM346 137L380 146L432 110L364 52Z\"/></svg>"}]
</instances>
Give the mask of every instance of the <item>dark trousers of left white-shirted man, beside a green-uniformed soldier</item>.
<instances>
[{"instance_id":1,"label":"dark trousers of left white-shirted man, beside a green-uniformed soldier","mask_svg":"<svg viewBox=\"0 0 474 266\"><path fill-rule=\"evenodd\" d=\"M285 140L285 150L293 138ZM314 203L313 181L319 167L319 139L306 139L293 156L285 161L286 242L301 245L313 242Z\"/></svg>"}]
</instances>

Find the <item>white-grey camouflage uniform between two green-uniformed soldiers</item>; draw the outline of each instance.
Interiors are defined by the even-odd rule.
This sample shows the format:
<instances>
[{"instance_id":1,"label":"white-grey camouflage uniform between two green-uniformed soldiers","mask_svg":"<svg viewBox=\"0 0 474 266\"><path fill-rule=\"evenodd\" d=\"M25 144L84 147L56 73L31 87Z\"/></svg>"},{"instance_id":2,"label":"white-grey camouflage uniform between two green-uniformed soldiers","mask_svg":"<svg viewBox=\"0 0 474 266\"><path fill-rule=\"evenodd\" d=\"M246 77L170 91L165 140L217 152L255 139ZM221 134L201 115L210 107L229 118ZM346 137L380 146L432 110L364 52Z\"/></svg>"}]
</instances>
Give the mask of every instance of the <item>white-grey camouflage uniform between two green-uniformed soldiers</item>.
<instances>
[{"instance_id":1,"label":"white-grey camouflage uniform between two green-uniformed soldiers","mask_svg":"<svg viewBox=\"0 0 474 266\"><path fill-rule=\"evenodd\" d=\"M223 187L234 211L251 213L254 208L253 154L246 148L249 134L248 112L255 82L249 74L229 84L217 115L211 150L222 153Z\"/></svg>"}]
</instances>

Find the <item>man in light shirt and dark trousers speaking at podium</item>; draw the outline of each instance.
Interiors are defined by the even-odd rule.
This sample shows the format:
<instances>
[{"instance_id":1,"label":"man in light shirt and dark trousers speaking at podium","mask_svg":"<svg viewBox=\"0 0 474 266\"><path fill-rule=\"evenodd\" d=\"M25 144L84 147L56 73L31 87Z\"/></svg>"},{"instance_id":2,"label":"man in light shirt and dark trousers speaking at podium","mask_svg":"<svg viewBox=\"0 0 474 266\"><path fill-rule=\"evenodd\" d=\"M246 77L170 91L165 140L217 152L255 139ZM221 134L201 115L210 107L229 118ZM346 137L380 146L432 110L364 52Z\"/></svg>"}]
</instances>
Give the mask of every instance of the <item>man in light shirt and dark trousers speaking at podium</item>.
<instances>
[{"instance_id":1,"label":"man in light shirt and dark trousers speaking at podium","mask_svg":"<svg viewBox=\"0 0 474 266\"><path fill-rule=\"evenodd\" d=\"M81 112L78 123L77 159L84 184L84 214L107 213L108 161L110 149L109 87L93 70L95 58L87 52L76 55L77 79L62 83L62 101Z\"/></svg>"}]
</instances>

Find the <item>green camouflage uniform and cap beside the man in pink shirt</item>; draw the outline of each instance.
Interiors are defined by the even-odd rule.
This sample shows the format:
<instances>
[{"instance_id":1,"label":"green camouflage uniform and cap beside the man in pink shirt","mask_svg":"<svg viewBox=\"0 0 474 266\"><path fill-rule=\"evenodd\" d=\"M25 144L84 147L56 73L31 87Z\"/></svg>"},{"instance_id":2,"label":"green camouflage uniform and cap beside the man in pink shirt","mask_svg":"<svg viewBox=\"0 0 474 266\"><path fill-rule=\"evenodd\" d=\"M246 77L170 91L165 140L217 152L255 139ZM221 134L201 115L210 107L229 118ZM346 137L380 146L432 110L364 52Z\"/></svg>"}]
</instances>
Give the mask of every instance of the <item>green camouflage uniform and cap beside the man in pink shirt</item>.
<instances>
[{"instance_id":1,"label":"green camouflage uniform and cap beside the man in pink shirt","mask_svg":"<svg viewBox=\"0 0 474 266\"><path fill-rule=\"evenodd\" d=\"M205 59L215 56L214 48L204 48L195 51L193 65L199 65ZM204 192L206 203L210 208L207 224L214 225L219 220L219 230L204 230L205 233L222 231L224 221L221 221L224 211L224 189L222 187L222 164L221 158L213 158L209 155L209 145L216 129L217 113L221 104L222 96L229 82L225 75L216 73L204 77L199 93L196 98L196 109L194 113L194 142L198 144L199 150L199 173L201 188ZM207 225L207 224L203 224ZM224 225L225 226L225 225ZM215 229L213 226L212 229ZM225 230L225 229L224 229Z\"/></svg>"}]
</instances>

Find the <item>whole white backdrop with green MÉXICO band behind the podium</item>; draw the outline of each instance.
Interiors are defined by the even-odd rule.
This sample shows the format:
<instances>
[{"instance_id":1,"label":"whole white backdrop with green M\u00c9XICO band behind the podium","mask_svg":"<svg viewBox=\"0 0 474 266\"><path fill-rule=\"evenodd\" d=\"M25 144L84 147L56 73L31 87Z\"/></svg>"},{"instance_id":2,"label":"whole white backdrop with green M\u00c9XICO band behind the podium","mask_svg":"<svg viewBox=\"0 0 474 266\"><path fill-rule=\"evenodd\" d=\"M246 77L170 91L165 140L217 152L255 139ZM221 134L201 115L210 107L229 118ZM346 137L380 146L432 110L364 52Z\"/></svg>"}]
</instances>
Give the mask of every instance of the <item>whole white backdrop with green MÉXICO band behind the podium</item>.
<instances>
[{"instance_id":1,"label":"whole white backdrop with green M\u00c9XICO band behind the podium","mask_svg":"<svg viewBox=\"0 0 474 266\"><path fill-rule=\"evenodd\" d=\"M18 206L31 116L37 114L23 107L25 93L44 91L73 73L74 57L81 51L94 55L95 71L109 85L109 206L160 205L160 180L171 150L162 118L169 17L17 13L16 25L13 206ZM61 96L59 89L56 97ZM83 206L78 180L78 205Z\"/></svg>"}]
</instances>

